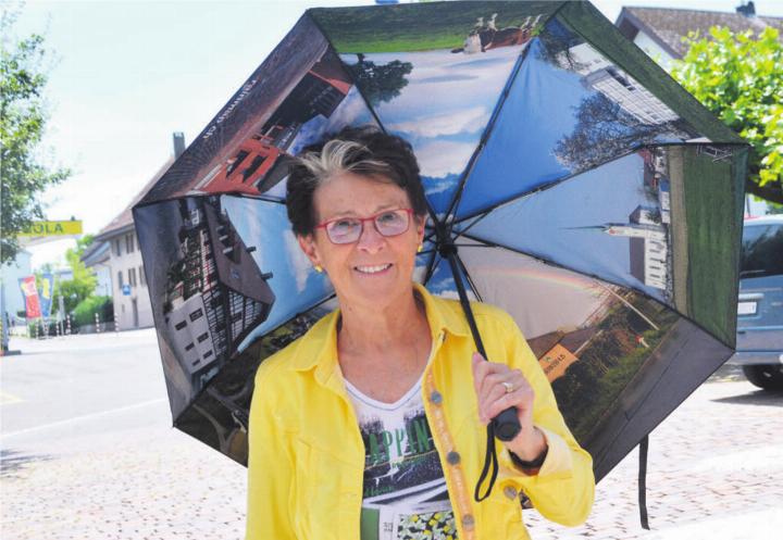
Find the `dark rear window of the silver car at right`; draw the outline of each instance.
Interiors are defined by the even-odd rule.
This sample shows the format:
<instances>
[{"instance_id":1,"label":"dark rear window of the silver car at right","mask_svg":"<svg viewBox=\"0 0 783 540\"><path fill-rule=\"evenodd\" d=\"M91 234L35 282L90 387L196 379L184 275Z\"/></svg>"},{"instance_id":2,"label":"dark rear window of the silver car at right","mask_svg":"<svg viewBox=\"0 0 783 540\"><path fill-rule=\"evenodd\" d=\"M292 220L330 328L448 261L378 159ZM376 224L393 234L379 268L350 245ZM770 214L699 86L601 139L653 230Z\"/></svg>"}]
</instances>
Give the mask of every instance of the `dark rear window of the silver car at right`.
<instances>
[{"instance_id":1,"label":"dark rear window of the silver car at right","mask_svg":"<svg viewBox=\"0 0 783 540\"><path fill-rule=\"evenodd\" d=\"M746 225L739 276L783 275L783 225Z\"/></svg>"}]
</instances>

